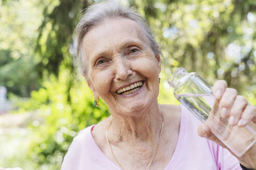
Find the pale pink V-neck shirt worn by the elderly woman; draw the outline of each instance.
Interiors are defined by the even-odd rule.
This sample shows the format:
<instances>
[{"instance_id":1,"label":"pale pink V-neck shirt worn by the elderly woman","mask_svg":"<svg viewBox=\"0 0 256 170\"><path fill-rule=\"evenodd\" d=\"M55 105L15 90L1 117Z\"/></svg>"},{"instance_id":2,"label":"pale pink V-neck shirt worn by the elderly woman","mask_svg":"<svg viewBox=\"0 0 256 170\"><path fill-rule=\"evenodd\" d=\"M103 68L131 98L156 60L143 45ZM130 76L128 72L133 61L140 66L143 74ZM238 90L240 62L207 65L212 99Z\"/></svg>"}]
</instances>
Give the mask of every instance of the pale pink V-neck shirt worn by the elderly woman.
<instances>
[{"instance_id":1,"label":"pale pink V-neck shirt worn by the elderly woman","mask_svg":"<svg viewBox=\"0 0 256 170\"><path fill-rule=\"evenodd\" d=\"M180 133L173 156L165 170L241 170L238 160L226 149L198 136L197 127L200 123L181 106ZM121 170L101 152L92 137L92 127L86 127L73 139L61 170Z\"/></svg>"}]
</instances>

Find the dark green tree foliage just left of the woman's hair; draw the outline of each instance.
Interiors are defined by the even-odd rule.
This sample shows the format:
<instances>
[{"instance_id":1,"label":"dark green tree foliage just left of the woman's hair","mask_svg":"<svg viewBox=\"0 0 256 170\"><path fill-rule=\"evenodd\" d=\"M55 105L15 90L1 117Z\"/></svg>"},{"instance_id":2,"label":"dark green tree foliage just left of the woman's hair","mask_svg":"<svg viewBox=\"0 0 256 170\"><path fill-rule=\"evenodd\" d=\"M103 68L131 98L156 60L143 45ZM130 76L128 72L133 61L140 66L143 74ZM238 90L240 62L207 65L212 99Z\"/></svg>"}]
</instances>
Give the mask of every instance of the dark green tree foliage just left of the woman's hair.
<instances>
[{"instance_id":1,"label":"dark green tree foliage just left of the woman's hair","mask_svg":"<svg viewBox=\"0 0 256 170\"><path fill-rule=\"evenodd\" d=\"M44 20L39 27L36 53L40 54L41 62L36 66L37 73L43 77L45 72L58 75L59 64L70 55L72 33L77 23L79 12L86 8L87 1L48 1L44 6ZM66 63L72 70L72 63Z\"/></svg>"}]
</instances>

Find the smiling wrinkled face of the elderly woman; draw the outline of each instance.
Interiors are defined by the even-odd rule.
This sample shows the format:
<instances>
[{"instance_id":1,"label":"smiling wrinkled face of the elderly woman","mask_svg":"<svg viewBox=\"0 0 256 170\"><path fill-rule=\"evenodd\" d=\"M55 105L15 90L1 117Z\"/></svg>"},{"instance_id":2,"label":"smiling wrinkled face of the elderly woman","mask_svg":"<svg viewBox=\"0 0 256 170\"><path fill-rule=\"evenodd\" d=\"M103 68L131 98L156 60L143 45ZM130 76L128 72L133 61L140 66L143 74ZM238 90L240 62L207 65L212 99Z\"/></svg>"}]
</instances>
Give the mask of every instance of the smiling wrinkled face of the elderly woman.
<instances>
[{"instance_id":1,"label":"smiling wrinkled face of the elderly woman","mask_svg":"<svg viewBox=\"0 0 256 170\"><path fill-rule=\"evenodd\" d=\"M85 34L82 50L88 86L112 114L136 116L157 101L161 60L135 21L118 18L95 25Z\"/></svg>"}]
</instances>

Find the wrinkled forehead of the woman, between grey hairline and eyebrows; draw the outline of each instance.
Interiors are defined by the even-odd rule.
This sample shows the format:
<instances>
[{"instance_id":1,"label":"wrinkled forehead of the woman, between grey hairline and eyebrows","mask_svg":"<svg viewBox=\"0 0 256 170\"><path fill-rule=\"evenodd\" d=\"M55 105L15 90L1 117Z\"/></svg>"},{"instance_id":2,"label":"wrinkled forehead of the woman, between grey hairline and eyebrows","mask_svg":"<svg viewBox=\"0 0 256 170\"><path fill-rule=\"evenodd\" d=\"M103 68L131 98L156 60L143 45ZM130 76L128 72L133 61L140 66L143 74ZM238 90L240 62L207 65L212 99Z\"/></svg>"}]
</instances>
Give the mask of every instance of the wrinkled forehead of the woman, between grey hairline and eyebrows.
<instances>
[{"instance_id":1,"label":"wrinkled forehead of the woman, between grey hairline and eyebrows","mask_svg":"<svg viewBox=\"0 0 256 170\"><path fill-rule=\"evenodd\" d=\"M94 25L83 37L82 50L86 58L98 50L118 48L126 41L140 41L149 46L149 40L137 22L127 18L105 19Z\"/></svg>"}]
</instances>

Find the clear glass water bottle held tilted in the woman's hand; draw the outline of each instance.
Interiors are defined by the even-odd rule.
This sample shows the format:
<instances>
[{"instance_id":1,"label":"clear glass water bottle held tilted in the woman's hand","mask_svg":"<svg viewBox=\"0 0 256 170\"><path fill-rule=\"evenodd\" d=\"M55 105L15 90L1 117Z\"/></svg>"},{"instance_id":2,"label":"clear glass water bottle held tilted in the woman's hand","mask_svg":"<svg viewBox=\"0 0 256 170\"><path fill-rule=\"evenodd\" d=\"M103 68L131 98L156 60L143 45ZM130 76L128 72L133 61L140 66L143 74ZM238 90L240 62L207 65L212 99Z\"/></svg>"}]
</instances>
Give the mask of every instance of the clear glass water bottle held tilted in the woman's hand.
<instances>
[{"instance_id":1,"label":"clear glass water bottle held tilted in the woman's hand","mask_svg":"<svg viewBox=\"0 0 256 170\"><path fill-rule=\"evenodd\" d=\"M221 118L219 99L212 95L211 86L197 73L188 73L180 67L170 76L168 83L174 88L175 98L201 122L205 122L212 133L231 151L241 157L256 142L256 125L228 125L228 118Z\"/></svg>"}]
</instances>

